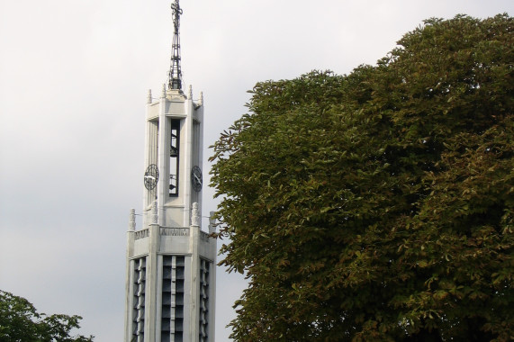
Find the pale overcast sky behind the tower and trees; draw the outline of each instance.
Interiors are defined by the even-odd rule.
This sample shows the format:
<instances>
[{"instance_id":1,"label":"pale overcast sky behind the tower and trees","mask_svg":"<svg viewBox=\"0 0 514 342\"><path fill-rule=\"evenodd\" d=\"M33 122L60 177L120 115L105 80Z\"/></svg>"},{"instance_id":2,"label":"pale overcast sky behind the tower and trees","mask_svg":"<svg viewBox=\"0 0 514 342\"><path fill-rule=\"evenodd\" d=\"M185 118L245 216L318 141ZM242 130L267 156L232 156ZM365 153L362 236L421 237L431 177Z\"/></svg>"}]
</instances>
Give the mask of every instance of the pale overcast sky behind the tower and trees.
<instances>
[{"instance_id":1,"label":"pale overcast sky behind the tower and trees","mask_svg":"<svg viewBox=\"0 0 514 342\"><path fill-rule=\"evenodd\" d=\"M81 333L96 342L122 341L125 232L142 203L146 94L167 78L170 3L0 0L0 289L83 316ZM194 97L204 94L206 147L246 111L258 81L374 64L429 17L514 12L511 0L181 6L183 72ZM212 193L203 191L205 211ZM229 340L244 286L218 269L218 342Z\"/></svg>"}]
</instances>

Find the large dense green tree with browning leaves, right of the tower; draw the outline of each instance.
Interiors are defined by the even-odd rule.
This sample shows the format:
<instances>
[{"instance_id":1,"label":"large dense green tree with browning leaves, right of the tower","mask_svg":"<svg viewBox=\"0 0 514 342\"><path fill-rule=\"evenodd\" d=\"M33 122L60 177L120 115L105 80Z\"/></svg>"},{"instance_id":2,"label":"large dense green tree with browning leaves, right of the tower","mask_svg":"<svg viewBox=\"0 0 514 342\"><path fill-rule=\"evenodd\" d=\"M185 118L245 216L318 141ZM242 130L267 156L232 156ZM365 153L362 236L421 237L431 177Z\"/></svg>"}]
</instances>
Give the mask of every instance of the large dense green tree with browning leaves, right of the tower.
<instances>
[{"instance_id":1,"label":"large dense green tree with browning leaves, right of the tower","mask_svg":"<svg viewBox=\"0 0 514 342\"><path fill-rule=\"evenodd\" d=\"M375 67L254 87L212 157L233 338L514 338L513 33L431 19Z\"/></svg>"}]
</instances>

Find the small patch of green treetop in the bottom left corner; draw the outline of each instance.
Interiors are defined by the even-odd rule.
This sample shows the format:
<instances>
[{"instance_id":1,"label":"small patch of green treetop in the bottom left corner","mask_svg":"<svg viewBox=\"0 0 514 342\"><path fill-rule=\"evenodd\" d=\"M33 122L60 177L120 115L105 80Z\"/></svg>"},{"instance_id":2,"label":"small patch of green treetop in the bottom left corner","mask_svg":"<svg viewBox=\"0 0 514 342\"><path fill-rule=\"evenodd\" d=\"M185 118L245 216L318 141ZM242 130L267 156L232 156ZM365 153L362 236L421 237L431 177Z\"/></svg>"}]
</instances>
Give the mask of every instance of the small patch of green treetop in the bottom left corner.
<instances>
[{"instance_id":1,"label":"small patch of green treetop in the bottom left corner","mask_svg":"<svg viewBox=\"0 0 514 342\"><path fill-rule=\"evenodd\" d=\"M79 316L38 313L32 303L0 290L0 341L2 342L92 342L93 337L71 337Z\"/></svg>"}]
</instances>

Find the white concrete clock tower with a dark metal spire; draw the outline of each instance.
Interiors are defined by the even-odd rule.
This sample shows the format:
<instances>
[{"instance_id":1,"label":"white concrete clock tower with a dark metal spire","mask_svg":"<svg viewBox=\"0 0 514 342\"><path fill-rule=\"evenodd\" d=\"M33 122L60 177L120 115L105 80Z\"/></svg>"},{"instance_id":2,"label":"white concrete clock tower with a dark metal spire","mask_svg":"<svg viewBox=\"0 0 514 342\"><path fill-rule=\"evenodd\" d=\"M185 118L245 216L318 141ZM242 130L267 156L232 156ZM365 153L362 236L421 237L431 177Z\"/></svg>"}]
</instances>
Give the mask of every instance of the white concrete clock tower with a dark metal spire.
<instances>
[{"instance_id":1,"label":"white concrete clock tower with a dark metal spire","mask_svg":"<svg viewBox=\"0 0 514 342\"><path fill-rule=\"evenodd\" d=\"M216 240L202 230L203 95L182 90L178 0L167 86L148 94L143 227L127 241L125 342L213 341Z\"/></svg>"}]
</instances>

